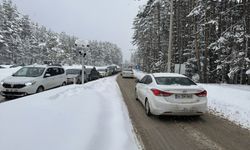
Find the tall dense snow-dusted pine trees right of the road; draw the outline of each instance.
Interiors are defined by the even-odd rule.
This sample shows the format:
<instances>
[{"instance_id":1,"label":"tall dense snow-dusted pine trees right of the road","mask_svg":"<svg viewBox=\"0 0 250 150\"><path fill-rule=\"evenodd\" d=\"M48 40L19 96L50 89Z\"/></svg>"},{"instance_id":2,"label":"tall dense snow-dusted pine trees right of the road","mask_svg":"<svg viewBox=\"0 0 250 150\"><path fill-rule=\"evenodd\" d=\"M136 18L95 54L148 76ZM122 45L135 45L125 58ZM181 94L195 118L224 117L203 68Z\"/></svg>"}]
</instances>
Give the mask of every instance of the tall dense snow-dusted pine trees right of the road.
<instances>
[{"instance_id":1,"label":"tall dense snow-dusted pine trees right of the road","mask_svg":"<svg viewBox=\"0 0 250 150\"><path fill-rule=\"evenodd\" d=\"M167 70L170 5L149 0L134 19L132 60L146 72ZM250 0L174 0L172 71L205 83L249 83Z\"/></svg>"}]
</instances>

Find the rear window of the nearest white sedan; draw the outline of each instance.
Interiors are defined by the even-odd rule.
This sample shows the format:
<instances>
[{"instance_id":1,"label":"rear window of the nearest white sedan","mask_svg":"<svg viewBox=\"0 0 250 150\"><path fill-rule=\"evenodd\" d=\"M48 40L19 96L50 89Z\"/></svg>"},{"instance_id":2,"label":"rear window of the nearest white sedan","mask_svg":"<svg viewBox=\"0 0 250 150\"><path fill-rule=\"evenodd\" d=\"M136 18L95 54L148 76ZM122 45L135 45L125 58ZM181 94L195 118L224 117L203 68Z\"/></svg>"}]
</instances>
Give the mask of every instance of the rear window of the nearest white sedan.
<instances>
[{"instance_id":1,"label":"rear window of the nearest white sedan","mask_svg":"<svg viewBox=\"0 0 250 150\"><path fill-rule=\"evenodd\" d=\"M159 85L196 85L192 80L185 77L155 77Z\"/></svg>"}]
</instances>

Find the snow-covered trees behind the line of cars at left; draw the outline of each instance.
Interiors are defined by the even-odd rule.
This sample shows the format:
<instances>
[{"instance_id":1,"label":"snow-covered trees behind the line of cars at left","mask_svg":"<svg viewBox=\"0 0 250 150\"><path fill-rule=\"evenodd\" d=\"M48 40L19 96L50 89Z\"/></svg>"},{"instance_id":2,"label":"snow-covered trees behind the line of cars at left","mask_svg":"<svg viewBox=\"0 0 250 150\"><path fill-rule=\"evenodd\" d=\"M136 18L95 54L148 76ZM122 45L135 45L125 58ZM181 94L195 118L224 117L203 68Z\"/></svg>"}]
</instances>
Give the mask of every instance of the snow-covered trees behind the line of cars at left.
<instances>
[{"instance_id":1,"label":"snow-covered trees behind the line of cars at left","mask_svg":"<svg viewBox=\"0 0 250 150\"><path fill-rule=\"evenodd\" d=\"M0 64L33 64L52 60L55 63L79 63L74 36L55 33L22 15L12 1L0 4ZM122 52L110 42L90 41L85 64L122 63Z\"/></svg>"}]
</instances>

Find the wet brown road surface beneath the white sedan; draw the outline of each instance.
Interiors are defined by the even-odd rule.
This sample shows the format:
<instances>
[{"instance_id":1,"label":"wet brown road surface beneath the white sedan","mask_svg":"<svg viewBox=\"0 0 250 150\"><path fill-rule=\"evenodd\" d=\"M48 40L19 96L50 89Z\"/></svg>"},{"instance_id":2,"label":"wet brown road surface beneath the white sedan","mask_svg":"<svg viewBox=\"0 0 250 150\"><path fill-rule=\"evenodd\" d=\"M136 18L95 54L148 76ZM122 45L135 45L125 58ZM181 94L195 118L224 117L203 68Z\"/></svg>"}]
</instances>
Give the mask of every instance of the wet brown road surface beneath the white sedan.
<instances>
[{"instance_id":1,"label":"wet brown road surface beneath the white sedan","mask_svg":"<svg viewBox=\"0 0 250 150\"><path fill-rule=\"evenodd\" d=\"M249 150L250 131L219 117L147 117L135 80L118 76L133 126L146 150Z\"/></svg>"}]
</instances>

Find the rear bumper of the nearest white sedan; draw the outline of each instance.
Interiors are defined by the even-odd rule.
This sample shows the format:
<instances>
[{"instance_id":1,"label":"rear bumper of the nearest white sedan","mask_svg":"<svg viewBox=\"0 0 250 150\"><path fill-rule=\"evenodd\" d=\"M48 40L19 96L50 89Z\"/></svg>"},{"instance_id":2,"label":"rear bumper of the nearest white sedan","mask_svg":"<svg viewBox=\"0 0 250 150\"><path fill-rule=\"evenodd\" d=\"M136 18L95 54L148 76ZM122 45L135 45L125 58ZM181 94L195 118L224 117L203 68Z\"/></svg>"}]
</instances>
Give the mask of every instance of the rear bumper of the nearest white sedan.
<instances>
[{"instance_id":1,"label":"rear bumper of the nearest white sedan","mask_svg":"<svg viewBox=\"0 0 250 150\"><path fill-rule=\"evenodd\" d=\"M150 104L151 112L155 115L193 116L207 112L207 101L177 104L156 101Z\"/></svg>"}]
</instances>

